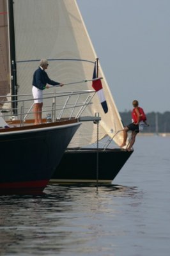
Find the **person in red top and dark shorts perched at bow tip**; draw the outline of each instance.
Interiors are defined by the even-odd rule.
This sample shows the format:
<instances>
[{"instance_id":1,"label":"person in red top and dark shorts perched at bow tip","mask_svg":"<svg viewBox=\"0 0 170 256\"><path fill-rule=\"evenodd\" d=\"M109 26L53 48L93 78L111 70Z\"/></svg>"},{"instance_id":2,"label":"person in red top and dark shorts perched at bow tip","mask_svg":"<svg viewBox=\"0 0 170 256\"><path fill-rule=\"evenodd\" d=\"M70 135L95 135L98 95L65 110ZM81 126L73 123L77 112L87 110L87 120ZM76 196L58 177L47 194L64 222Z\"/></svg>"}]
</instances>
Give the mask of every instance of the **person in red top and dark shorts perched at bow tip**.
<instances>
[{"instance_id":1,"label":"person in red top and dark shorts perched at bow tip","mask_svg":"<svg viewBox=\"0 0 170 256\"><path fill-rule=\"evenodd\" d=\"M144 124L149 126L146 123L146 115L144 114L143 109L139 107L139 102L137 100L134 100L132 102L132 105L134 106L134 109L132 110L132 123L128 124L123 129L123 143L120 146L120 147L125 147L126 146L127 136L128 136L127 132L132 131L132 138L130 140L130 143L129 143L128 147L126 148L127 151L132 150L132 146L135 143L135 136L137 135L137 133L139 133L139 123L141 121L143 121Z\"/></svg>"}]
</instances>

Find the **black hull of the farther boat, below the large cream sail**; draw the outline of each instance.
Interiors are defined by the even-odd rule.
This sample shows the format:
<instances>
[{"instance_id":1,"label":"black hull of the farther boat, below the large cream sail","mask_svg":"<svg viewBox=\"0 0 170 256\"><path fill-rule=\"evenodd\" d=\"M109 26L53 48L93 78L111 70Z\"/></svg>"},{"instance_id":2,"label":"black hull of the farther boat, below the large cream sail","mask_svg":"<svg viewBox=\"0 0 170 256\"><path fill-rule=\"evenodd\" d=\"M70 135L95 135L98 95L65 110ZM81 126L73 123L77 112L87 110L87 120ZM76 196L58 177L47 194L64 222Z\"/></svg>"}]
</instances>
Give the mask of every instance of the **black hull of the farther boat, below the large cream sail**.
<instances>
[{"instance_id":1,"label":"black hull of the farther boat, below the large cream sail","mask_svg":"<svg viewBox=\"0 0 170 256\"><path fill-rule=\"evenodd\" d=\"M101 184L109 184L118 175L132 152L120 148L107 148L105 151L103 148L81 148L80 150L70 148L63 155L50 182L95 183L98 181Z\"/></svg>"}]
</instances>

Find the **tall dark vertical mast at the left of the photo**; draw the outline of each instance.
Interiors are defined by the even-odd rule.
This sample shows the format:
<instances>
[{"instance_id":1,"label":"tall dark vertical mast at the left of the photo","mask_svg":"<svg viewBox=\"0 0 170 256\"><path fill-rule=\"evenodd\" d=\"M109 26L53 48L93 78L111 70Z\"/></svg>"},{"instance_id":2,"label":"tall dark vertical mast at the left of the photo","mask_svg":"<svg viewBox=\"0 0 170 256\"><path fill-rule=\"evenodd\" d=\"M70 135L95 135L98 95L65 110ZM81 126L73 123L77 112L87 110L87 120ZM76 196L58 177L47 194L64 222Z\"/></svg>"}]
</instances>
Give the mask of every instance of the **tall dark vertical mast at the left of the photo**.
<instances>
[{"instance_id":1,"label":"tall dark vertical mast at the left of the photo","mask_svg":"<svg viewBox=\"0 0 170 256\"><path fill-rule=\"evenodd\" d=\"M13 115L17 115L17 70L15 59L15 32L13 18L13 0L7 0L8 3L8 19L9 19L9 35L10 35L10 69L11 69L11 94ZM16 95L16 96L15 96Z\"/></svg>"}]
</instances>

